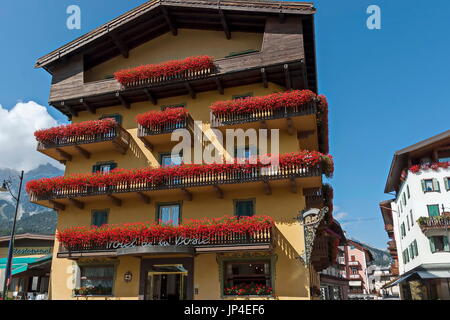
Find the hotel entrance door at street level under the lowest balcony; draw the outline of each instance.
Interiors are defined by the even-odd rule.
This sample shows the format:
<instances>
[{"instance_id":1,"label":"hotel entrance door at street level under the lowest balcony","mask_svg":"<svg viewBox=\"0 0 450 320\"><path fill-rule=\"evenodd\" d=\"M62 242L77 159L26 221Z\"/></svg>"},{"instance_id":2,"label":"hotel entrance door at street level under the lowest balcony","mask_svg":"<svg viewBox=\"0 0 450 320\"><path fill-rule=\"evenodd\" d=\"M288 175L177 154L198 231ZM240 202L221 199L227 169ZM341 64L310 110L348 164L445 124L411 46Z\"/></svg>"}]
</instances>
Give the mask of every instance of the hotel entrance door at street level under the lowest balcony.
<instances>
[{"instance_id":1,"label":"hotel entrance door at street level under the lowest balcony","mask_svg":"<svg viewBox=\"0 0 450 320\"><path fill-rule=\"evenodd\" d=\"M182 266L154 267L147 274L145 300L186 300L188 272Z\"/></svg>"}]
</instances>

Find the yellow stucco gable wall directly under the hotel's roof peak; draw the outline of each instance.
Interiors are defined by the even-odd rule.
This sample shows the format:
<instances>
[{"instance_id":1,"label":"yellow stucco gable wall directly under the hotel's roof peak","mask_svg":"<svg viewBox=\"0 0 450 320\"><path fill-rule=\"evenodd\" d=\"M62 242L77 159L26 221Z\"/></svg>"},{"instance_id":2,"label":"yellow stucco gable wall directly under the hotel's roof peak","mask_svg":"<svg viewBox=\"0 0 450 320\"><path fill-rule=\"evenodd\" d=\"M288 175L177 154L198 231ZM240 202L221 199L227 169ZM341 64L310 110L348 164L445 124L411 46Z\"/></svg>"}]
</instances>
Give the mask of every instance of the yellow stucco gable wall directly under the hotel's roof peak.
<instances>
[{"instance_id":1,"label":"yellow stucco gable wall directly under the hotel's roof peak","mask_svg":"<svg viewBox=\"0 0 450 320\"><path fill-rule=\"evenodd\" d=\"M130 50L128 59L117 56L95 66L86 71L85 81L102 80L121 69L190 56L220 59L233 52L261 50L262 39L262 33L233 32L233 39L227 40L223 31L179 29L177 36L166 33Z\"/></svg>"}]
</instances>

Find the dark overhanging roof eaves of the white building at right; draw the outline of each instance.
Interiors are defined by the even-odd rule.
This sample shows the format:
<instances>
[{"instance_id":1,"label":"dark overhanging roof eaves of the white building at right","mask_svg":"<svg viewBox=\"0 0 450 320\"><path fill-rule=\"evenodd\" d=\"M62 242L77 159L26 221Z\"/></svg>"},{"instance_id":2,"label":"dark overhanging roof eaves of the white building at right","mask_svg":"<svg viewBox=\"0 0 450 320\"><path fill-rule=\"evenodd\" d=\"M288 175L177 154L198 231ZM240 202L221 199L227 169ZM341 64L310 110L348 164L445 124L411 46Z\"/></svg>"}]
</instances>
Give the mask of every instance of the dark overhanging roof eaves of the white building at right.
<instances>
[{"instance_id":1,"label":"dark overhanging roof eaves of the white building at right","mask_svg":"<svg viewBox=\"0 0 450 320\"><path fill-rule=\"evenodd\" d=\"M389 193L395 190L396 186L399 184L400 175L403 169L407 167L408 157L411 153L416 153L422 150L426 151L433 146L445 143L450 143L450 130L395 152L384 192Z\"/></svg>"}]
</instances>

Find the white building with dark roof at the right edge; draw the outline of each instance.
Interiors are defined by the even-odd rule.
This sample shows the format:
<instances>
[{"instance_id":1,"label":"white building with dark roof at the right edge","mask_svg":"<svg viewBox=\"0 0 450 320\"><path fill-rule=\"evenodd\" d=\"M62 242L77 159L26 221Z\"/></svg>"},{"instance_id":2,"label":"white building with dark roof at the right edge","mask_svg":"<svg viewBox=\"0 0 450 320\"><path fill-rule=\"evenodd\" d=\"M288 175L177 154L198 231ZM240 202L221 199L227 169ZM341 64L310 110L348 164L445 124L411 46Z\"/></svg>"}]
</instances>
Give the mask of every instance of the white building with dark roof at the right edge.
<instances>
[{"instance_id":1,"label":"white building with dark roof at the right edge","mask_svg":"<svg viewBox=\"0 0 450 320\"><path fill-rule=\"evenodd\" d=\"M403 299L450 300L449 181L450 130L394 154L385 192L395 199L380 207L391 211Z\"/></svg>"}]
</instances>

